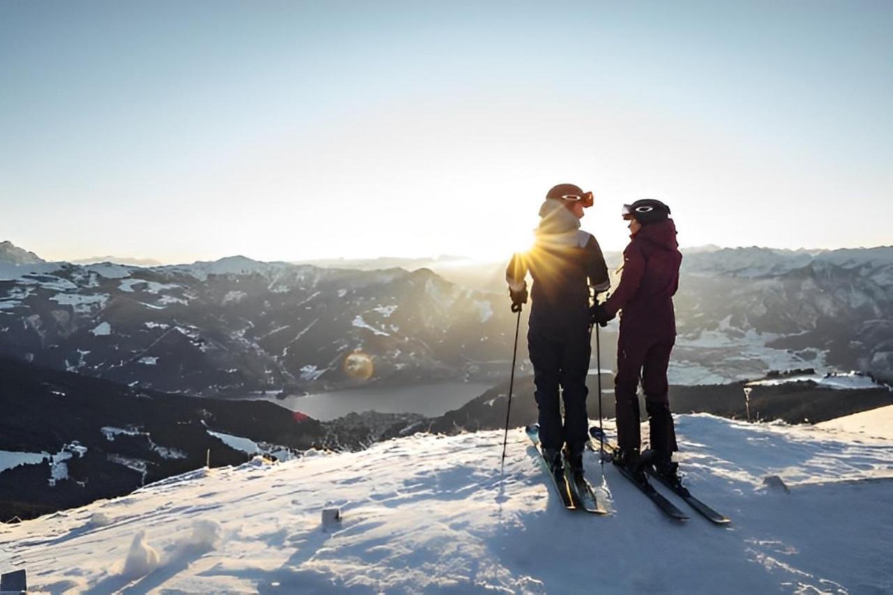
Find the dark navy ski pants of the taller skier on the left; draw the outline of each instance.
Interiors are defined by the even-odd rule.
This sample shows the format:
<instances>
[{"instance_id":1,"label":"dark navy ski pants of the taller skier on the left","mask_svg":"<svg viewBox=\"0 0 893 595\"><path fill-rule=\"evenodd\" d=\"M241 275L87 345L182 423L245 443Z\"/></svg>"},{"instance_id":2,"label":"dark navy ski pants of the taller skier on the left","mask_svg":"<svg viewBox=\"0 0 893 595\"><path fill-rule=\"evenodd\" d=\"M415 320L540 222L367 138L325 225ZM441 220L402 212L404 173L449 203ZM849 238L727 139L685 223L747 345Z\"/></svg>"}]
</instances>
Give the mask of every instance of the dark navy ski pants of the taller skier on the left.
<instances>
[{"instance_id":1,"label":"dark navy ski pants of the taller skier on the left","mask_svg":"<svg viewBox=\"0 0 893 595\"><path fill-rule=\"evenodd\" d=\"M582 454L588 440L588 329L582 325L553 335L531 326L527 344L539 409L539 440L543 448L557 450L567 443L572 454ZM563 421L559 399L564 401Z\"/></svg>"}]
</instances>

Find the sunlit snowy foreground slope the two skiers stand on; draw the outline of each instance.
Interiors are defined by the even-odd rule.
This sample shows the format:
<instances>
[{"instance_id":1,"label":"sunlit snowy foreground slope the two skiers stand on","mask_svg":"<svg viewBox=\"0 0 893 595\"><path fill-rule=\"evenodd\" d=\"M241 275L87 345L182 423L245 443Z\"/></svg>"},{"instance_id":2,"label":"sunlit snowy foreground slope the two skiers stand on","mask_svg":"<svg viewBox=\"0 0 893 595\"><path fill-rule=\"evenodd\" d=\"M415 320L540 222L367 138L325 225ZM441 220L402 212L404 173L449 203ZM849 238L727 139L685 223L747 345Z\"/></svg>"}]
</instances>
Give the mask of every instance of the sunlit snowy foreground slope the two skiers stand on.
<instances>
[{"instance_id":1,"label":"sunlit snowy foreground slope the two skiers stand on","mask_svg":"<svg viewBox=\"0 0 893 595\"><path fill-rule=\"evenodd\" d=\"M53 592L880 593L893 589L893 442L678 418L720 528L663 518L611 465L612 514L565 512L522 431L187 473L0 526L0 569ZM601 482L595 457L588 473ZM763 487L784 478L789 493ZM321 530L321 509L344 519ZM684 505L683 505L684 506Z\"/></svg>"}]
</instances>

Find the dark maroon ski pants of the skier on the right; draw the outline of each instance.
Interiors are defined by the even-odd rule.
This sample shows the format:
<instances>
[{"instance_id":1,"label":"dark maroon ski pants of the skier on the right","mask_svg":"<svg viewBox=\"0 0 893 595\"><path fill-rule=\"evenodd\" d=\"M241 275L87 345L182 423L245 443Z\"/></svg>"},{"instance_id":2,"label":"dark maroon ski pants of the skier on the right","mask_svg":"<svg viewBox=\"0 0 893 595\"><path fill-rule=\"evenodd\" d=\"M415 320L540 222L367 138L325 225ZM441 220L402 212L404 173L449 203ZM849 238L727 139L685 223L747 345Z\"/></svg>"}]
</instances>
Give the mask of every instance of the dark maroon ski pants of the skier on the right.
<instances>
[{"instance_id":1,"label":"dark maroon ski pants of the skier on the right","mask_svg":"<svg viewBox=\"0 0 893 595\"><path fill-rule=\"evenodd\" d=\"M650 448L668 453L679 450L667 394L667 366L675 338L624 339L621 333L617 346L617 375L614 377L617 443L627 451L641 446L638 411L638 381L641 379L650 425Z\"/></svg>"}]
</instances>

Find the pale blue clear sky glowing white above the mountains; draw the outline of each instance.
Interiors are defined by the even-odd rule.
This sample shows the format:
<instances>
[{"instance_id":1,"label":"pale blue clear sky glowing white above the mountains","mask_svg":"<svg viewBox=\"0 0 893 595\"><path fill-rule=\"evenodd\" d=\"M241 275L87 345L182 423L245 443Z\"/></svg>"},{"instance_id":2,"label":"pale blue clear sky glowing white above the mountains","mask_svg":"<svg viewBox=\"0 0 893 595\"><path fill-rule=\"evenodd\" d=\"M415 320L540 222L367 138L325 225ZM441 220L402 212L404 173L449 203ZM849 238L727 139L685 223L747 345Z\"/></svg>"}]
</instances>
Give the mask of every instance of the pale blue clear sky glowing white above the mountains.
<instances>
[{"instance_id":1,"label":"pale blue clear sky glowing white above the mountains","mask_svg":"<svg viewBox=\"0 0 893 595\"><path fill-rule=\"evenodd\" d=\"M682 246L893 244L893 3L0 0L0 240L507 258L547 190Z\"/></svg>"}]
</instances>

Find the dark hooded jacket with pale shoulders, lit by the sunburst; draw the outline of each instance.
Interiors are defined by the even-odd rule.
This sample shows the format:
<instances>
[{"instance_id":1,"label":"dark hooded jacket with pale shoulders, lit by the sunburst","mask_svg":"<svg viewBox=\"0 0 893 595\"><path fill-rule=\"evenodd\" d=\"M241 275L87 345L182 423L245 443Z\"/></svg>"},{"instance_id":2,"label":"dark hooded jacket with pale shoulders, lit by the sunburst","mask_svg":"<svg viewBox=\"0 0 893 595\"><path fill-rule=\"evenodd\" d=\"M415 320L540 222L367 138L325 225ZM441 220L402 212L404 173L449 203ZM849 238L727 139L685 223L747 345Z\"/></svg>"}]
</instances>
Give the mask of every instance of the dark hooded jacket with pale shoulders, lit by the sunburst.
<instances>
[{"instance_id":1,"label":"dark hooded jacket with pale shoulders, lit by the sunburst","mask_svg":"<svg viewBox=\"0 0 893 595\"><path fill-rule=\"evenodd\" d=\"M589 323L589 287L605 291L611 286L601 247L595 237L580 230L580 220L559 200L539 207L534 247L516 254L505 271L514 291L525 289L530 271L530 325L555 334L586 329Z\"/></svg>"}]
</instances>

